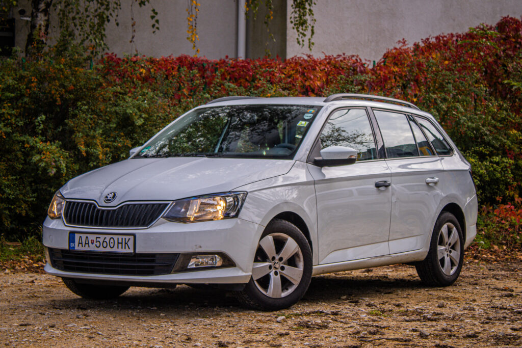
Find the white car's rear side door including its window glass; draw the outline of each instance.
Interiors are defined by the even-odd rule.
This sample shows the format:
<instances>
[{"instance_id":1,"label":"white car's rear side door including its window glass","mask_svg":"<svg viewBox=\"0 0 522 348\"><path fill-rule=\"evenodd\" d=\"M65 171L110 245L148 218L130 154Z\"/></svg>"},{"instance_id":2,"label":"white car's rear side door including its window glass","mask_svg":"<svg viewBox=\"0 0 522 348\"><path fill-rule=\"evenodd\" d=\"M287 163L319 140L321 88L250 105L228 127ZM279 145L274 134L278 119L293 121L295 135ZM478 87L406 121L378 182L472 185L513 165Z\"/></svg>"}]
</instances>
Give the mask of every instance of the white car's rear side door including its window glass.
<instances>
[{"instance_id":1,"label":"white car's rear side door including its window glass","mask_svg":"<svg viewBox=\"0 0 522 348\"><path fill-rule=\"evenodd\" d=\"M392 173L390 254L421 249L442 199L441 160L412 116L373 112Z\"/></svg>"}]
</instances>

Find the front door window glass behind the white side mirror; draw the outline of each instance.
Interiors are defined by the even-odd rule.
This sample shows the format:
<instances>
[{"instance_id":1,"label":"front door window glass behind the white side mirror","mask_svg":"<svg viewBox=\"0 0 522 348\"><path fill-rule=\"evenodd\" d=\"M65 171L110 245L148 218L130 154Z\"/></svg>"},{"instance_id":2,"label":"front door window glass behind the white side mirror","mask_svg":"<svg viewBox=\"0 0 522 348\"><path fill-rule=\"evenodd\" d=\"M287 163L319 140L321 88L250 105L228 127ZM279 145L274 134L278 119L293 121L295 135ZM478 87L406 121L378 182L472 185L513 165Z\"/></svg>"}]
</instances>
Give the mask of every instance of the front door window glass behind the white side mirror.
<instances>
[{"instance_id":1,"label":"front door window glass behind the white side mirror","mask_svg":"<svg viewBox=\"0 0 522 348\"><path fill-rule=\"evenodd\" d=\"M364 109L334 111L319 140L321 140L321 149L337 145L357 150L358 161L377 158L372 127Z\"/></svg>"}]
</instances>

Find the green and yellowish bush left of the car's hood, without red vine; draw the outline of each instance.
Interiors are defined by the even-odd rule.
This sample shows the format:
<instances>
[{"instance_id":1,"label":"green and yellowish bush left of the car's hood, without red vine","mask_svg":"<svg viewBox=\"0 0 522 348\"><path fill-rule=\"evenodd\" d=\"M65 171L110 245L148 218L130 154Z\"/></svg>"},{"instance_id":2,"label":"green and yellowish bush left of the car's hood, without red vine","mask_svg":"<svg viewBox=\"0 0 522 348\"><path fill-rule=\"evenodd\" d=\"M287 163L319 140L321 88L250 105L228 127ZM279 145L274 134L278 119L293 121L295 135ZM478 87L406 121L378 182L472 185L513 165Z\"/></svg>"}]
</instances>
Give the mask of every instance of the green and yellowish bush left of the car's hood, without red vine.
<instances>
[{"instance_id":1,"label":"green and yellowish bush left of the car's hood, without red vine","mask_svg":"<svg viewBox=\"0 0 522 348\"><path fill-rule=\"evenodd\" d=\"M171 119L149 88L109 86L81 51L55 50L0 68L0 232L37 233L68 179L120 161Z\"/></svg>"}]
</instances>

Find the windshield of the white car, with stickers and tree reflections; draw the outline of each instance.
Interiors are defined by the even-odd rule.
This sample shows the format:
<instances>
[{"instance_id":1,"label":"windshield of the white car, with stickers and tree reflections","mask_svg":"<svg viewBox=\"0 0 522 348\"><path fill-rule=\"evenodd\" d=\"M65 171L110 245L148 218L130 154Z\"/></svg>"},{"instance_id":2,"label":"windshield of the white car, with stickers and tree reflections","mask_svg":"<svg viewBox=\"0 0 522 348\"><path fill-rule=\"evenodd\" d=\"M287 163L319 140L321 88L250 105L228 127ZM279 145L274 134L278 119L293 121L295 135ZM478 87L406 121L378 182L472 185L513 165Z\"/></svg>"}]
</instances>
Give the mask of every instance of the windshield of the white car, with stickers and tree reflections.
<instances>
[{"instance_id":1,"label":"windshield of the white car, with stickers and tree reflections","mask_svg":"<svg viewBox=\"0 0 522 348\"><path fill-rule=\"evenodd\" d=\"M321 106L205 107L164 129L134 156L290 159Z\"/></svg>"}]
</instances>

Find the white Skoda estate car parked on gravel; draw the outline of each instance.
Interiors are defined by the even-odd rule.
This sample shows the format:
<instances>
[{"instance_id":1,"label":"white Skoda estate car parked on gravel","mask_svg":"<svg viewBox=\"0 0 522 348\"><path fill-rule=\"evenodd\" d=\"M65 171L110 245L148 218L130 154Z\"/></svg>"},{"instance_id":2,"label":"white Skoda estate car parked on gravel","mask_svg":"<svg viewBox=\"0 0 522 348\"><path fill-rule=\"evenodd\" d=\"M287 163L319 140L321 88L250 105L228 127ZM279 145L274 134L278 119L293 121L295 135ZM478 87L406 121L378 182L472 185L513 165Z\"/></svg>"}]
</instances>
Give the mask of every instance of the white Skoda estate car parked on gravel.
<instances>
[{"instance_id":1,"label":"white Skoda estate car parked on gravel","mask_svg":"<svg viewBox=\"0 0 522 348\"><path fill-rule=\"evenodd\" d=\"M470 164L411 103L226 97L70 180L48 215L45 271L79 296L214 284L275 310L329 272L413 263L452 284L477 197Z\"/></svg>"}]
</instances>

